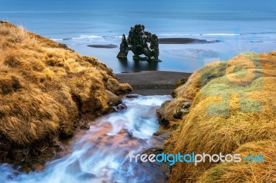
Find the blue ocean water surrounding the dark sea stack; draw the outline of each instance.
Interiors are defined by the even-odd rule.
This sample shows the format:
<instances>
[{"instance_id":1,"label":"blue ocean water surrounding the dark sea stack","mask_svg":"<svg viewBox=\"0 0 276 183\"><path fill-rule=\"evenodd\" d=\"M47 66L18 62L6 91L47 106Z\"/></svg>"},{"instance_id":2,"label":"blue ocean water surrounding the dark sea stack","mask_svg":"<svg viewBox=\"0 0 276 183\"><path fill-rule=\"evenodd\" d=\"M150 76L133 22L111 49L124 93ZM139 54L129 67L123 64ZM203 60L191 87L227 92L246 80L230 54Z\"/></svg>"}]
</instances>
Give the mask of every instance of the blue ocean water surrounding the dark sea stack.
<instances>
[{"instance_id":1,"label":"blue ocean water surrounding the dark sea stack","mask_svg":"<svg viewBox=\"0 0 276 183\"><path fill-rule=\"evenodd\" d=\"M194 72L241 52L276 46L276 1L20 1L0 0L0 19L95 56L115 73L144 70ZM219 43L159 45L161 63L118 59L121 35L141 23L159 38L195 38Z\"/></svg>"}]
</instances>

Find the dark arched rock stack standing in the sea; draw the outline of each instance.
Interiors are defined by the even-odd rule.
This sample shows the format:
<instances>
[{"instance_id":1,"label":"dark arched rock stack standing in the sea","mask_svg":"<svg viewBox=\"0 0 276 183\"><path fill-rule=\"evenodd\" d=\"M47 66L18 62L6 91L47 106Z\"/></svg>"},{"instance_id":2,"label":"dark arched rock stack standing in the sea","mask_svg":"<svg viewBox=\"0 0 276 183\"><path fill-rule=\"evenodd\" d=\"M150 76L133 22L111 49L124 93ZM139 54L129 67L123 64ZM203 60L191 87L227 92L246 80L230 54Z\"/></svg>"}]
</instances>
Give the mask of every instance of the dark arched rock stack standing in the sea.
<instances>
[{"instance_id":1,"label":"dark arched rock stack standing in the sea","mask_svg":"<svg viewBox=\"0 0 276 183\"><path fill-rule=\"evenodd\" d=\"M126 58L128 51L133 52L133 59L137 61L159 61L157 35L146 32L144 25L135 25L134 28L130 28L128 39L123 35L117 57ZM142 54L145 57L141 57Z\"/></svg>"}]
</instances>

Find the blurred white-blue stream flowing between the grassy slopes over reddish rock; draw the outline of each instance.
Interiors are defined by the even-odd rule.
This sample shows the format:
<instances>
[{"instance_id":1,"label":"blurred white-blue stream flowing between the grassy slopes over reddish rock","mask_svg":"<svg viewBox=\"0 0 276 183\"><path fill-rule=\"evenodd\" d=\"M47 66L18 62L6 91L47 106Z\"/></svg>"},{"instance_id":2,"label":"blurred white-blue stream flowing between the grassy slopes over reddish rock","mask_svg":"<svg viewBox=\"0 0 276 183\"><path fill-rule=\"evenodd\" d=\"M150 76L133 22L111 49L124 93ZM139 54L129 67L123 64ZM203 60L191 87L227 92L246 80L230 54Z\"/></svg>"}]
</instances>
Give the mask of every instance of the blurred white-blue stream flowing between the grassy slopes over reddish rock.
<instances>
[{"instance_id":1,"label":"blurred white-blue stream flowing between the grassy slopes over reddish rock","mask_svg":"<svg viewBox=\"0 0 276 183\"><path fill-rule=\"evenodd\" d=\"M1 164L0 182L166 182L166 175L157 166L130 162L128 155L163 143L152 134L159 129L156 109L170 98L123 98L128 109L92 122L88 131L73 138L72 153L48 162L43 171L19 173L8 164Z\"/></svg>"}]
</instances>

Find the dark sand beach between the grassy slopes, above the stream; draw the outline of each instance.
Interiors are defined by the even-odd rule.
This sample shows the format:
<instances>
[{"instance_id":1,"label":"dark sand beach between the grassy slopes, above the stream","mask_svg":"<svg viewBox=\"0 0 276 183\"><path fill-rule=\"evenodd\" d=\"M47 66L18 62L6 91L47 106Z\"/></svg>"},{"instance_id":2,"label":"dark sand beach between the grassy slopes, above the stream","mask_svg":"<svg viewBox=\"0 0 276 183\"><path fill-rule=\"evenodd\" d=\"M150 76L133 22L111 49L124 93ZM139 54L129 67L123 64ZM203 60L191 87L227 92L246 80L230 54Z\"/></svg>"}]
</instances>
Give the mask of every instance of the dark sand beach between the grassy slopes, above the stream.
<instances>
[{"instance_id":1,"label":"dark sand beach between the grassy slopes, above the stream","mask_svg":"<svg viewBox=\"0 0 276 183\"><path fill-rule=\"evenodd\" d=\"M135 94L144 96L170 95L175 83L180 78L188 78L191 73L146 71L115 74L121 83L129 83Z\"/></svg>"}]
</instances>

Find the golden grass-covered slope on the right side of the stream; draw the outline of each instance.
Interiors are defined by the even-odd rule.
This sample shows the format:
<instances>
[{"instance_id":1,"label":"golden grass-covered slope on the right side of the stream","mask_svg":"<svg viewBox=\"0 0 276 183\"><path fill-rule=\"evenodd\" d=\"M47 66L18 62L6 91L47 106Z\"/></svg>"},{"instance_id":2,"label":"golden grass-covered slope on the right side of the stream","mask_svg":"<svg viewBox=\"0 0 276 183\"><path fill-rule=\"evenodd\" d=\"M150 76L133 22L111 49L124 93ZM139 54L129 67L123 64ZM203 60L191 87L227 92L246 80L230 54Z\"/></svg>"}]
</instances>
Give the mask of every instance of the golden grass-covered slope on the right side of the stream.
<instances>
[{"instance_id":1,"label":"golden grass-covered slope on the right side of the stream","mask_svg":"<svg viewBox=\"0 0 276 183\"><path fill-rule=\"evenodd\" d=\"M265 163L177 163L170 182L276 182L276 52L245 53L195 72L159 113L178 127L166 153L263 155ZM180 120L173 114L192 103Z\"/></svg>"}]
</instances>

